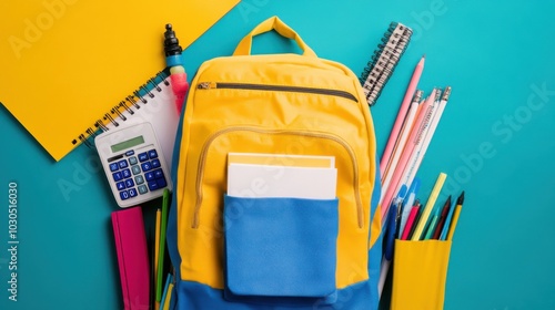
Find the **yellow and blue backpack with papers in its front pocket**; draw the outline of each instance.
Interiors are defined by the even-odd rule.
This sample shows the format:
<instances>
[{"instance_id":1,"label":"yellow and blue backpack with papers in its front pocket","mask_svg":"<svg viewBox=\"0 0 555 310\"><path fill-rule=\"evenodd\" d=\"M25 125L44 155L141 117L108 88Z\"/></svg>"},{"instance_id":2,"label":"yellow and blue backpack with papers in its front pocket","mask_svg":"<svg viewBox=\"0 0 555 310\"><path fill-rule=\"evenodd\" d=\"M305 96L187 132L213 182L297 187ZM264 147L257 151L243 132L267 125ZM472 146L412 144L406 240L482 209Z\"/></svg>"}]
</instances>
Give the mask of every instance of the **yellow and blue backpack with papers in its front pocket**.
<instances>
[{"instance_id":1,"label":"yellow and blue backpack with papers in its front pocket","mask_svg":"<svg viewBox=\"0 0 555 310\"><path fill-rule=\"evenodd\" d=\"M271 30L303 53L251 55ZM274 17L200 66L183 117L168 229L175 309L377 308L375 136L350 69ZM336 198L231 197L230 153L333 156Z\"/></svg>"}]
</instances>

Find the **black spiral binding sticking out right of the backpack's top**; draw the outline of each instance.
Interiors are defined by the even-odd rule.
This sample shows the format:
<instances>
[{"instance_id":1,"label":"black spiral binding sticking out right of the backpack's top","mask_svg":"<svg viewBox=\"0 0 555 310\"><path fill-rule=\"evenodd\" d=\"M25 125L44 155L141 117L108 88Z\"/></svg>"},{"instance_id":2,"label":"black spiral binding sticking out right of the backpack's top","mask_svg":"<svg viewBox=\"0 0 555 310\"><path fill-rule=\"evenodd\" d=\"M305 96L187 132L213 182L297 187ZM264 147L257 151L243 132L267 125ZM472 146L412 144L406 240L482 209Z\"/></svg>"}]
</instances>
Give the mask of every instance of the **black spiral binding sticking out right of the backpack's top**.
<instances>
[{"instance_id":1,"label":"black spiral binding sticking out right of the backpack's top","mask_svg":"<svg viewBox=\"0 0 555 310\"><path fill-rule=\"evenodd\" d=\"M374 51L360 78L370 106L375 104L382 93L385 83L405 52L412 34L413 31L408 27L392 22L383 35L382 43L377 45L377 50Z\"/></svg>"}]
</instances>

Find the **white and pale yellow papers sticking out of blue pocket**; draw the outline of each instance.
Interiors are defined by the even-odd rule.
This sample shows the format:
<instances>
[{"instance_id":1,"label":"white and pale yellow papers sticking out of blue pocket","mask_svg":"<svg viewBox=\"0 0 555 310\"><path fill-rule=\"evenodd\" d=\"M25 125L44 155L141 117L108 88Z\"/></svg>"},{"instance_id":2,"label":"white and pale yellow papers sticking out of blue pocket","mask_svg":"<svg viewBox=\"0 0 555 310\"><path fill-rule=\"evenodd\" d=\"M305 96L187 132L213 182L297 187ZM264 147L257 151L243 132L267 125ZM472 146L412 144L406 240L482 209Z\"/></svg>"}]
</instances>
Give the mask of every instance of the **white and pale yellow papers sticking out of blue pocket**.
<instances>
[{"instance_id":1,"label":"white and pale yellow papers sticking out of blue pocket","mask_svg":"<svg viewBox=\"0 0 555 310\"><path fill-rule=\"evenodd\" d=\"M333 156L230 153L228 195L334 199L337 169Z\"/></svg>"}]
</instances>

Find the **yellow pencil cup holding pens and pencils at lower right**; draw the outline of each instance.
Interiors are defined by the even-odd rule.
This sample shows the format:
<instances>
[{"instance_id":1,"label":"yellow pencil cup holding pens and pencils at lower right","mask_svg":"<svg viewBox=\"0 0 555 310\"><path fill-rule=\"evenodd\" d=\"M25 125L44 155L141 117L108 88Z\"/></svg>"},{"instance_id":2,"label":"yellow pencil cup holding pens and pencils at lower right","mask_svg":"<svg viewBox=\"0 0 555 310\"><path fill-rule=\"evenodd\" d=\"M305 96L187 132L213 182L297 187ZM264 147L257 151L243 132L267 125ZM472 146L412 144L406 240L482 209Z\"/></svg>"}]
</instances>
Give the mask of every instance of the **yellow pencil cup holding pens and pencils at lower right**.
<instances>
[{"instance_id":1,"label":"yellow pencil cup holding pens and pencils at lower right","mask_svg":"<svg viewBox=\"0 0 555 310\"><path fill-rule=\"evenodd\" d=\"M451 245L395 240L392 310L443 309Z\"/></svg>"}]
</instances>

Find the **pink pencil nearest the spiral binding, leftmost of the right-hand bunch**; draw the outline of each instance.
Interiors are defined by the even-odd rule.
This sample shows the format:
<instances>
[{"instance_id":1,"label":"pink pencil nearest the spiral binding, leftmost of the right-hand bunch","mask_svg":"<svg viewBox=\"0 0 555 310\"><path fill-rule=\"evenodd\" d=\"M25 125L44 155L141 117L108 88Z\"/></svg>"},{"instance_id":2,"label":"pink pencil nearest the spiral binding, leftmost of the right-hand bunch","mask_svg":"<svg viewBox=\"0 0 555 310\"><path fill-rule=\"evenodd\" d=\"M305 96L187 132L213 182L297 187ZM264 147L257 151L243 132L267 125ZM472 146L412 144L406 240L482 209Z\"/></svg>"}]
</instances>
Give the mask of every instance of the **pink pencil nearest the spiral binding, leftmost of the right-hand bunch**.
<instances>
[{"instance_id":1,"label":"pink pencil nearest the spiral binding, leftmost of the right-hand bunch","mask_svg":"<svg viewBox=\"0 0 555 310\"><path fill-rule=\"evenodd\" d=\"M393 124L393 130L390 134L390 140L385 146L385 151L382 155L382 161L380 162L380 173L383 176L385 172L385 167L390 162L391 154L393 148L397 142L398 132L401 131L401 126L403 125L403 121L405 120L406 112L408 111L408 106L411 105L411 100L416 91L416 86L418 85L420 76L422 75L422 71L424 70L424 60L426 55L423 55L420 60L418 64L414 69L413 76L411 78L411 82L408 83L408 87L406 89L405 96L403 97L403 102L401 103L401 108L398 110L397 118Z\"/></svg>"}]
</instances>

